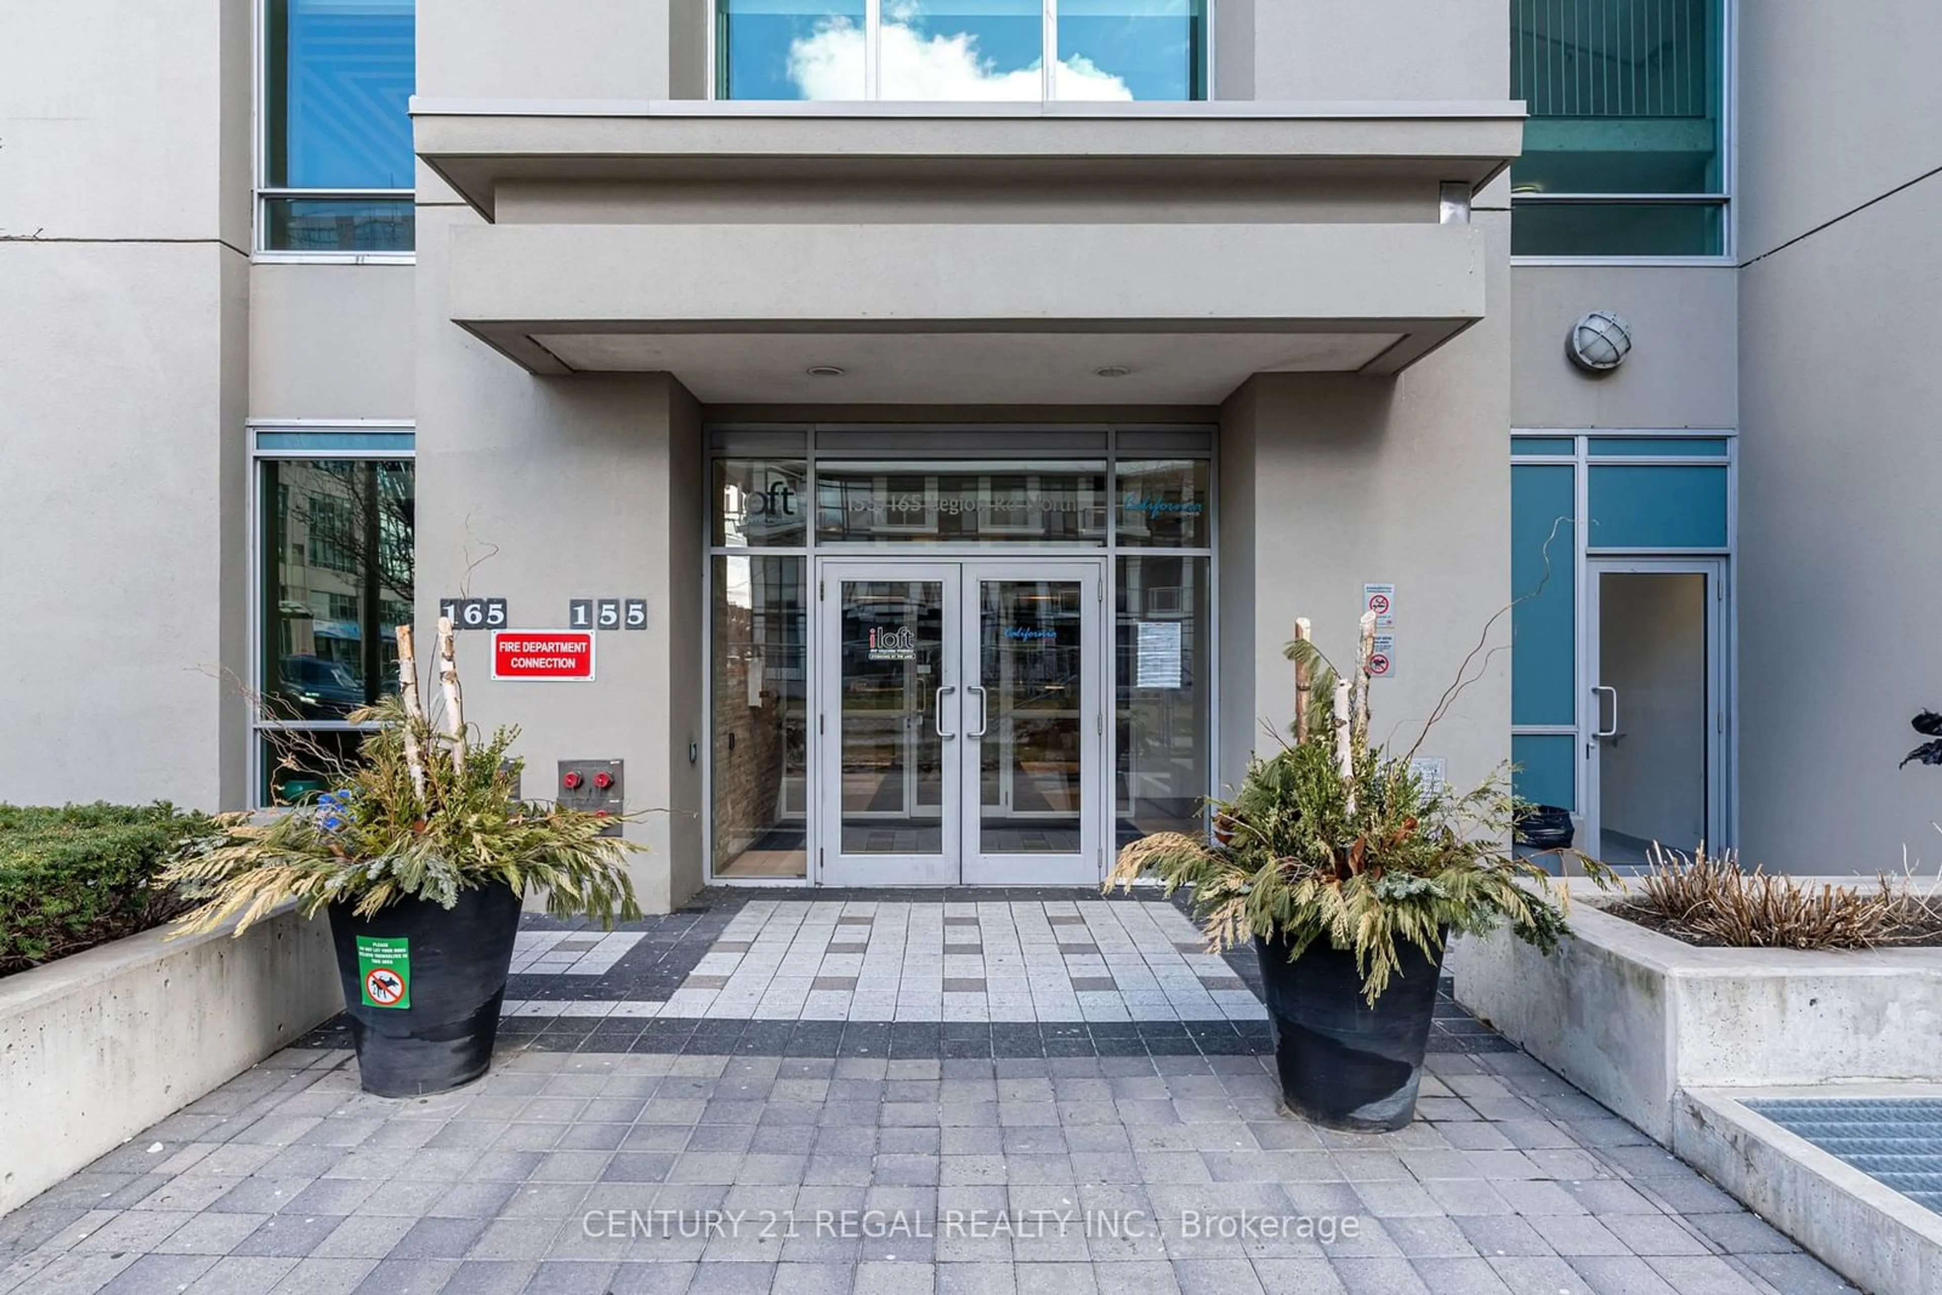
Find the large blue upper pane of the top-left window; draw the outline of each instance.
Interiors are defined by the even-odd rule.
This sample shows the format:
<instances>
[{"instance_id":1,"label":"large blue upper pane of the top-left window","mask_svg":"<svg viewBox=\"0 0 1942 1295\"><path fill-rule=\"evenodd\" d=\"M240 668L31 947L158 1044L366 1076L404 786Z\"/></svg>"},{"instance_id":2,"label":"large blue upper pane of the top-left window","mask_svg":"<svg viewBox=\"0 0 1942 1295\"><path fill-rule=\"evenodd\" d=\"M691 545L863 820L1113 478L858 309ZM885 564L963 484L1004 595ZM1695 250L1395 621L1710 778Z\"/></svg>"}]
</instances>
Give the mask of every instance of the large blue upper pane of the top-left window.
<instances>
[{"instance_id":1,"label":"large blue upper pane of the top-left window","mask_svg":"<svg viewBox=\"0 0 1942 1295\"><path fill-rule=\"evenodd\" d=\"M270 0L270 188L412 188L414 0Z\"/></svg>"}]
</instances>

